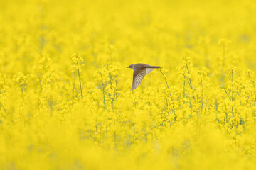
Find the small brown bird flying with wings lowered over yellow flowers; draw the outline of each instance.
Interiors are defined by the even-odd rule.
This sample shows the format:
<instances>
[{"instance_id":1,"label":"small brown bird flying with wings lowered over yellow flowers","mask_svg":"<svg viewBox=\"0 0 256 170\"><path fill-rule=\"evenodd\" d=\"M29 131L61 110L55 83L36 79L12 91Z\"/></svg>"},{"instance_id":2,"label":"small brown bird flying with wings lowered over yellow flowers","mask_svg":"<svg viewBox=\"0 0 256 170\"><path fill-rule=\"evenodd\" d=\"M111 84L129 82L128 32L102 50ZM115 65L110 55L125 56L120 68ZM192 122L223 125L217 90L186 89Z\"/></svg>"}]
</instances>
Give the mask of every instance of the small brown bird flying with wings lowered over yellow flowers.
<instances>
[{"instance_id":1,"label":"small brown bird flying with wings lowered over yellow flowers","mask_svg":"<svg viewBox=\"0 0 256 170\"><path fill-rule=\"evenodd\" d=\"M149 74L149 72L152 72L153 69L159 69L159 66L151 66L148 64L143 63L137 63L129 65L127 68L133 69L133 80L132 80L132 91L136 89L141 83L142 79L146 76L146 74Z\"/></svg>"}]
</instances>

